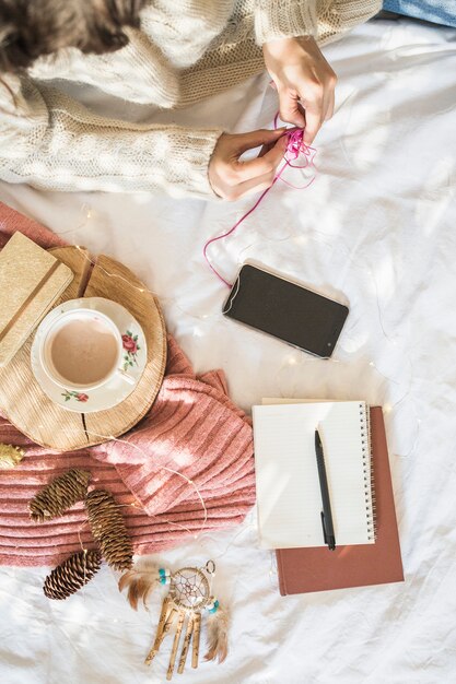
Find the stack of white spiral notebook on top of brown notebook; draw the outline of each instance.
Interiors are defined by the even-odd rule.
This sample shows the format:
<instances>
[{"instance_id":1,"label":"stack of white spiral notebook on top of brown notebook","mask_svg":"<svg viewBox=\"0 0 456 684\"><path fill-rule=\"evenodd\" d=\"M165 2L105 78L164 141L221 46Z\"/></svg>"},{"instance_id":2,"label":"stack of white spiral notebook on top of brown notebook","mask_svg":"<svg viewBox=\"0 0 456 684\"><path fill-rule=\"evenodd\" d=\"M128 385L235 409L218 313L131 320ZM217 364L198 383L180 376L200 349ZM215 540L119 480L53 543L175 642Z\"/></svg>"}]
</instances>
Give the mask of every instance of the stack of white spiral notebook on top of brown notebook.
<instances>
[{"instance_id":1,"label":"stack of white spiral notebook on top of brown notebook","mask_svg":"<svg viewBox=\"0 0 456 684\"><path fill-rule=\"evenodd\" d=\"M265 399L253 415L260 546L277 550L281 594L404 581L382 409ZM316 429L335 551L323 533Z\"/></svg>"}]
</instances>

